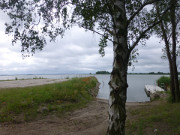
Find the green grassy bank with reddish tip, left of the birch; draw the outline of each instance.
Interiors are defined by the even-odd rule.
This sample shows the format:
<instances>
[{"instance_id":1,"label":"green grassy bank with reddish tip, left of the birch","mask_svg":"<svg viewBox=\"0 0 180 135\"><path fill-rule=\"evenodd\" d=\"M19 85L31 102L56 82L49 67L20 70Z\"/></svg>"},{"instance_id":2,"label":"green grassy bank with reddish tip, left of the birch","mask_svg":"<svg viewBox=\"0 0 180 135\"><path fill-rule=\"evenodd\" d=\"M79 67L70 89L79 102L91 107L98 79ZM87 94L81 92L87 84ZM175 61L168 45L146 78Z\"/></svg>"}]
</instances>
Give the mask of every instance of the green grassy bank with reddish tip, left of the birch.
<instances>
[{"instance_id":1,"label":"green grassy bank with reddish tip, left of the birch","mask_svg":"<svg viewBox=\"0 0 180 135\"><path fill-rule=\"evenodd\" d=\"M48 114L85 106L93 99L94 77L74 78L67 82L0 90L0 122L22 122Z\"/></svg>"}]
</instances>

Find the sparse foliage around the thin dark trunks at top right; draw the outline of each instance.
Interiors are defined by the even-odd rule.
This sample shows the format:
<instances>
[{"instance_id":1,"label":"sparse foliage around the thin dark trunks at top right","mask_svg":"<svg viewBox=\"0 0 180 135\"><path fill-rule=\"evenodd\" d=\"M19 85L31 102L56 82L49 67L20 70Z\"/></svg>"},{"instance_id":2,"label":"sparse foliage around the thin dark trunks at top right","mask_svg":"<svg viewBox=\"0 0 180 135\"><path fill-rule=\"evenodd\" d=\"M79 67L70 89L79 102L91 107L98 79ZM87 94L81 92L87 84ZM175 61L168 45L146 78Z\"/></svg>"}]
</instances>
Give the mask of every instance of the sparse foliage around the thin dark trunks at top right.
<instances>
[{"instance_id":1,"label":"sparse foliage around the thin dark trunks at top right","mask_svg":"<svg viewBox=\"0 0 180 135\"><path fill-rule=\"evenodd\" d=\"M171 5L172 3L171 3L172 1L170 1L170 0L164 0L164 1L160 1L159 3L156 3L156 8L155 8L155 14L159 14L159 13L161 13L161 12L163 12L164 11L164 9L165 8L167 8L169 5ZM176 26L178 26L179 25L179 23L180 23L180 16L179 16L179 13L180 13L180 8L179 7L176 7L176 9L175 9L175 25ZM168 56L167 56L167 52L169 52L169 53L171 53L171 55L172 55L172 53L173 53L173 47L172 47L172 22L171 22L171 18L170 18L170 10L163 16L163 21L162 21L162 23L161 24L159 24L159 25L156 25L155 27L154 27L154 32L155 32L155 34L164 42L161 42L161 43L163 43L163 44L165 44L165 46L164 46L164 48L162 49L162 51L163 51L163 56L162 56L162 58L163 59L167 59L168 58ZM159 15L160 16L160 15ZM163 35L163 30L162 30L162 27L163 27L163 29L164 29L164 32L165 32L165 34L166 34L166 37L165 37L165 35ZM180 33L179 33L179 30L178 30L178 28L176 28L176 36L177 36L177 38L176 38L176 43L177 43L177 46L176 46L176 51L175 51L175 53L176 53L176 55L178 56L179 55L179 36L180 36ZM165 38L167 38L167 42L168 42L168 49L167 49L167 46L166 46L166 43L165 43ZM172 57L172 56L171 56ZM169 59L169 58L168 58Z\"/></svg>"}]
</instances>

